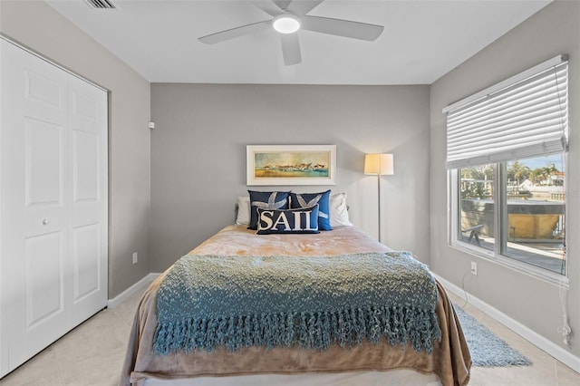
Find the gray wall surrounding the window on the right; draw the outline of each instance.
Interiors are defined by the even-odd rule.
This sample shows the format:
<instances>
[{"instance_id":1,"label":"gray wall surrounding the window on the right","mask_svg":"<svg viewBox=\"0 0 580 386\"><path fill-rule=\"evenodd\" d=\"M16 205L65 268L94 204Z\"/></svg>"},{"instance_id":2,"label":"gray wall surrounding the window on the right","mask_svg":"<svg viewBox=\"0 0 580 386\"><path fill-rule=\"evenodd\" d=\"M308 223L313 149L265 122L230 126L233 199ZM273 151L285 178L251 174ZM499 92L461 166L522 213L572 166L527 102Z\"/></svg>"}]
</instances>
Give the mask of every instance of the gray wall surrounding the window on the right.
<instances>
[{"instance_id":1,"label":"gray wall surrounding the window on the right","mask_svg":"<svg viewBox=\"0 0 580 386\"><path fill-rule=\"evenodd\" d=\"M556 1L431 85L430 91L430 265L437 274L461 286L471 261L478 275L468 291L536 333L563 346L558 286L523 275L487 259L448 246L445 117L441 109L559 53L569 53L570 147L567 174L568 310L573 335L570 349L580 354L580 2Z\"/></svg>"}]
</instances>

